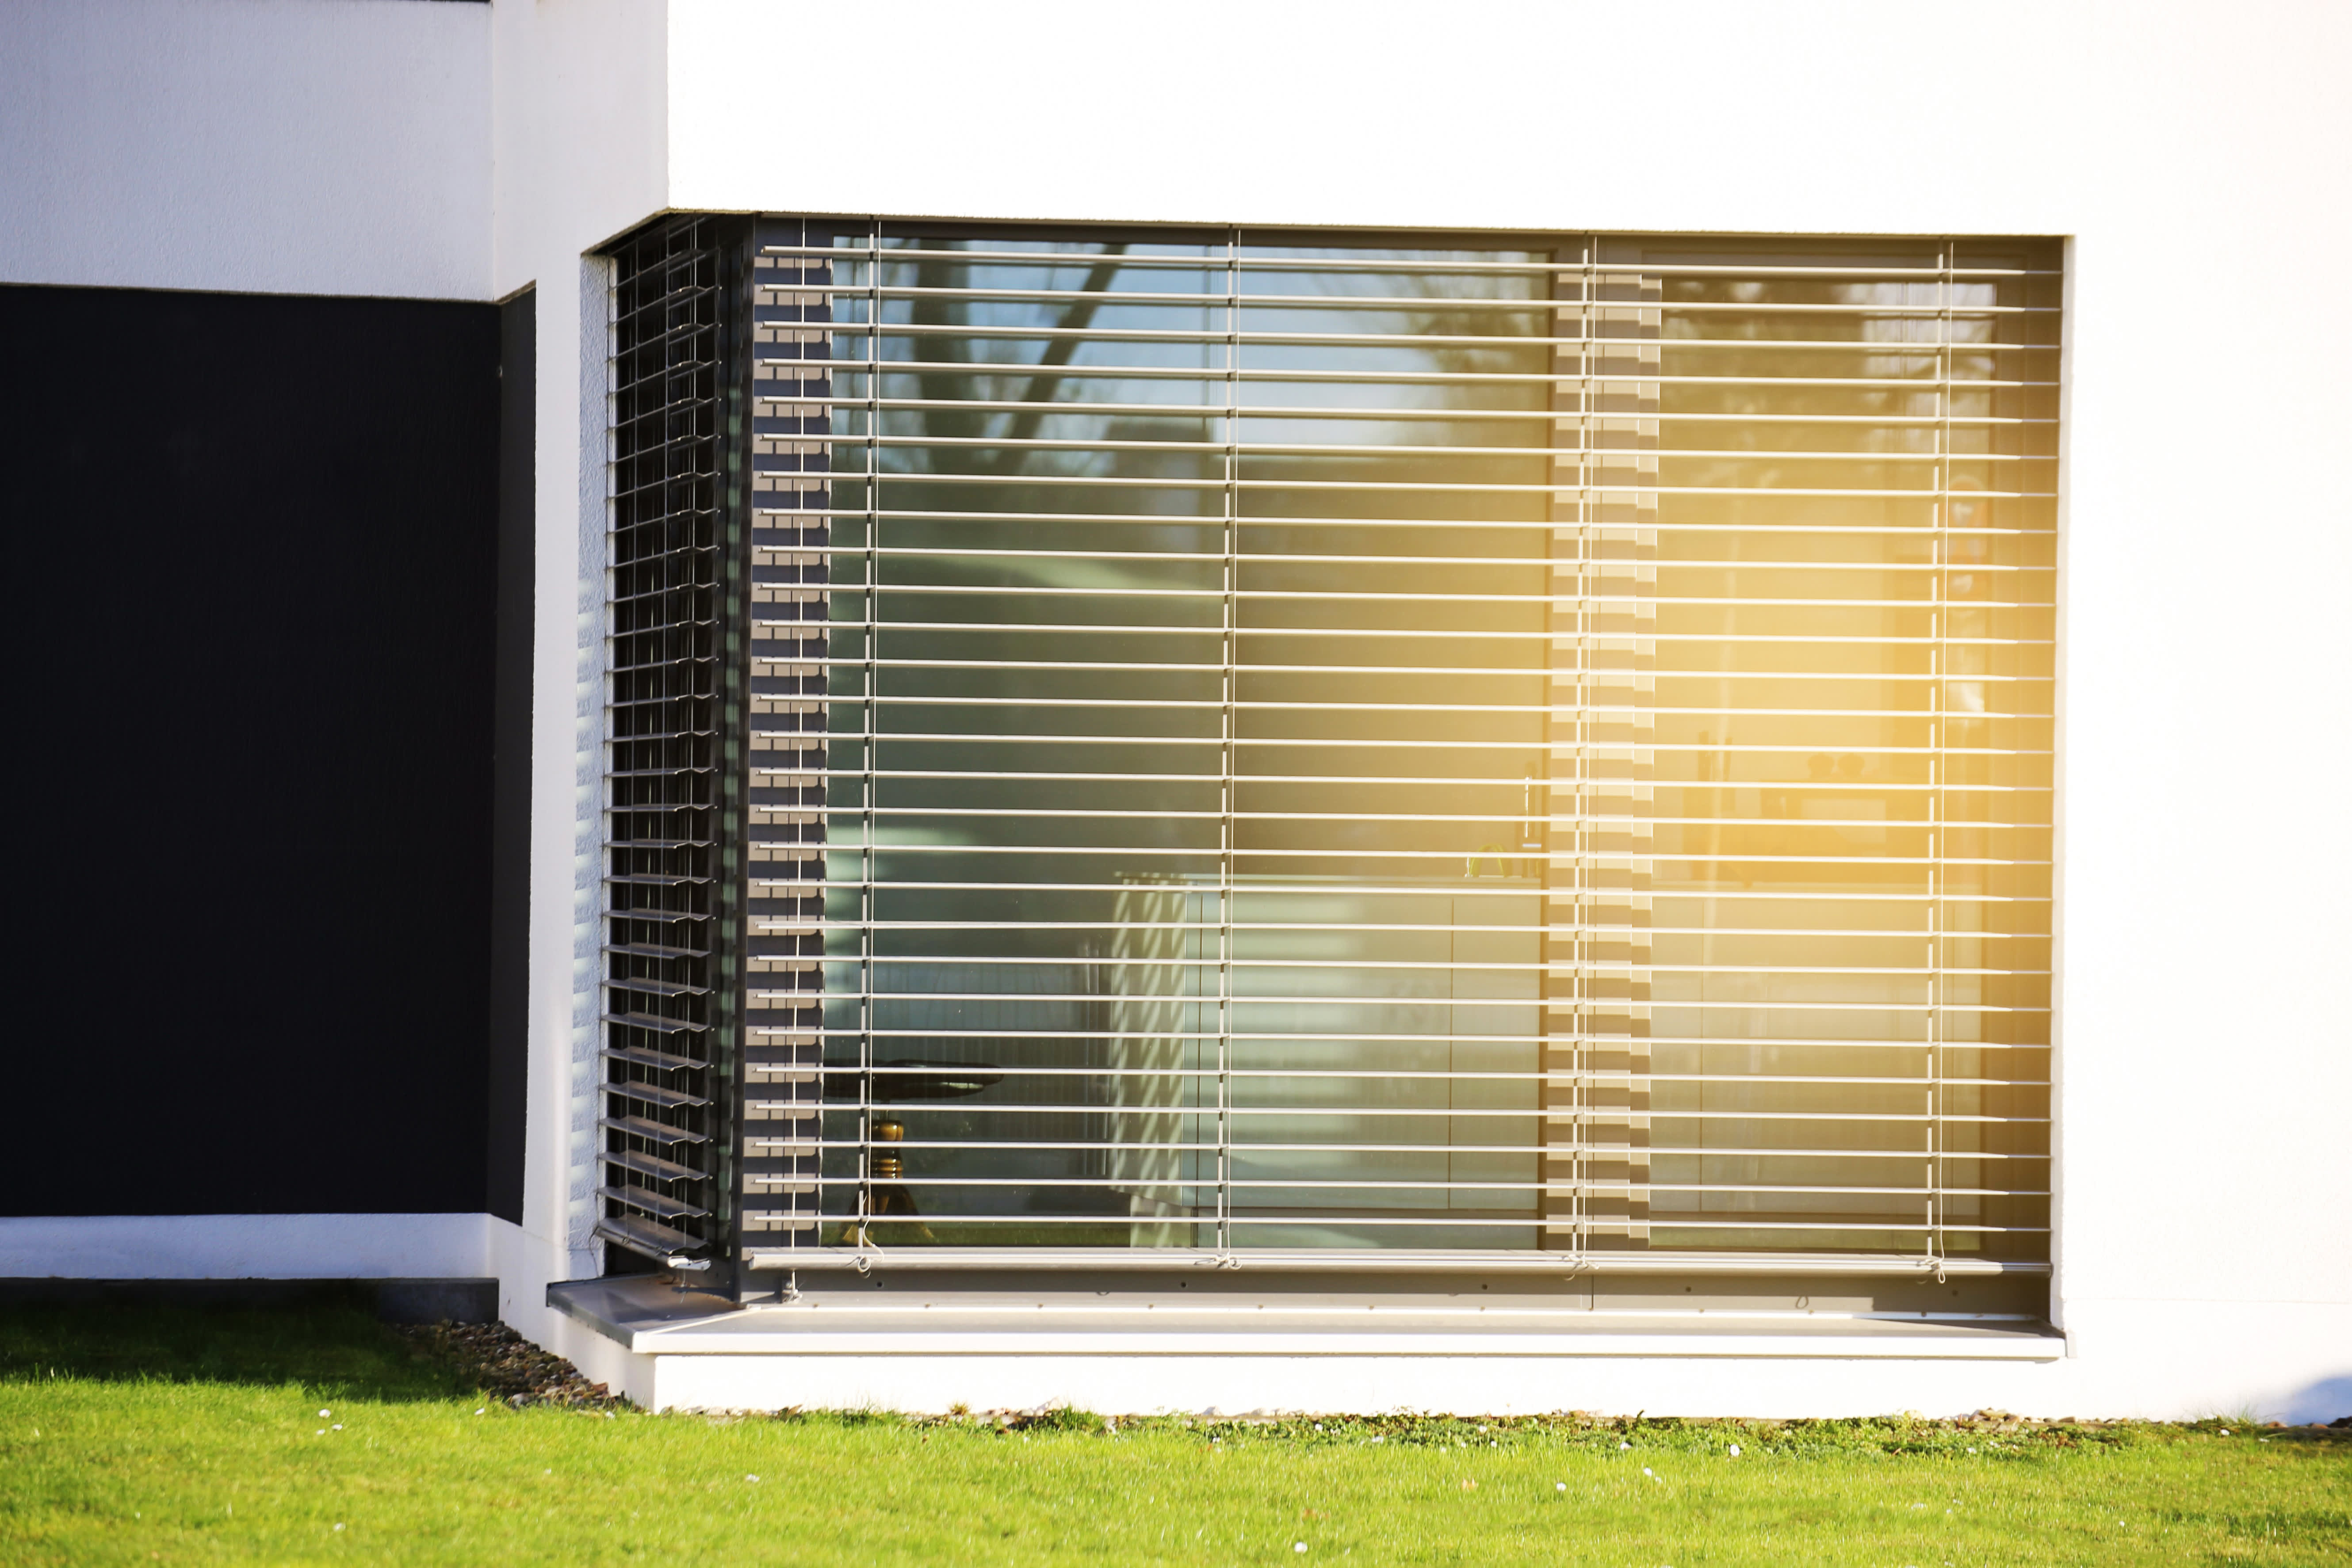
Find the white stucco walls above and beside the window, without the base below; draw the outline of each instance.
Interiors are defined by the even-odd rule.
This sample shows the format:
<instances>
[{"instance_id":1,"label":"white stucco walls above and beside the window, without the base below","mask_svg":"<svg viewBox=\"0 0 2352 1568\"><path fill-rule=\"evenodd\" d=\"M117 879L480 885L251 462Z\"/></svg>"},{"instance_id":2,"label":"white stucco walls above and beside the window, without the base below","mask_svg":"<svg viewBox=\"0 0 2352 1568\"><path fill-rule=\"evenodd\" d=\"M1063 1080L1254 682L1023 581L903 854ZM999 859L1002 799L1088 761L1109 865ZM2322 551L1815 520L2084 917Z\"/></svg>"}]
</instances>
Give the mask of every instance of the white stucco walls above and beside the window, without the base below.
<instances>
[{"instance_id":1,"label":"white stucco walls above and beside the window, without the base below","mask_svg":"<svg viewBox=\"0 0 2352 1568\"><path fill-rule=\"evenodd\" d=\"M1952 1366L1839 1387L2192 1413L2352 1378L2333 997L2352 317L2331 289L2352 254L2352 9L49 0L14 7L5 40L0 280L539 287L529 1173L524 1225L487 1237L527 1331L572 1335L539 1288L590 1267L586 252L661 209L2060 233L2074 1354L1980 1396ZM1705 1387L1757 1408L1778 1378L1717 1366Z\"/></svg>"}]
</instances>

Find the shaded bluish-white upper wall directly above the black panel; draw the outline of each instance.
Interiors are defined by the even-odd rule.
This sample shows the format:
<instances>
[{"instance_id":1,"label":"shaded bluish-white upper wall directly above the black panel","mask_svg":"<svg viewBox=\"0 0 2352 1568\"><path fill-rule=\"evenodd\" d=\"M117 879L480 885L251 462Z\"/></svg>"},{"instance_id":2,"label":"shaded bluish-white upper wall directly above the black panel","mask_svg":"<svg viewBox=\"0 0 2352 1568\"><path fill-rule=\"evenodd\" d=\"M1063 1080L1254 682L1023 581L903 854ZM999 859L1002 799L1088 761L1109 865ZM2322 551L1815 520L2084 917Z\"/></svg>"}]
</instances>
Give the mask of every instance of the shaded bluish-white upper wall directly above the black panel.
<instances>
[{"instance_id":1,"label":"shaded bluish-white upper wall directly above the black panel","mask_svg":"<svg viewBox=\"0 0 2352 1568\"><path fill-rule=\"evenodd\" d=\"M14 0L0 282L489 296L489 9Z\"/></svg>"}]
</instances>

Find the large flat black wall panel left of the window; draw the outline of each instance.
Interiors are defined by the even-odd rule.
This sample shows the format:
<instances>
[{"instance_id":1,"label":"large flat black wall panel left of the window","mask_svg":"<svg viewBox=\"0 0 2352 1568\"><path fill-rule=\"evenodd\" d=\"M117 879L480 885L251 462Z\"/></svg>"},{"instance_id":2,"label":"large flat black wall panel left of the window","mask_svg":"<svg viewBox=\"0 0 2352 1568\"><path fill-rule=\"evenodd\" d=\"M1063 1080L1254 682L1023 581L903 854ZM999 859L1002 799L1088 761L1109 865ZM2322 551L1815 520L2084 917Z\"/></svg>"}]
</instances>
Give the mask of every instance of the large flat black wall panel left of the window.
<instances>
[{"instance_id":1,"label":"large flat black wall panel left of the window","mask_svg":"<svg viewBox=\"0 0 2352 1568\"><path fill-rule=\"evenodd\" d=\"M0 289L0 1213L520 1185L489 1171L499 339L496 306Z\"/></svg>"}]
</instances>

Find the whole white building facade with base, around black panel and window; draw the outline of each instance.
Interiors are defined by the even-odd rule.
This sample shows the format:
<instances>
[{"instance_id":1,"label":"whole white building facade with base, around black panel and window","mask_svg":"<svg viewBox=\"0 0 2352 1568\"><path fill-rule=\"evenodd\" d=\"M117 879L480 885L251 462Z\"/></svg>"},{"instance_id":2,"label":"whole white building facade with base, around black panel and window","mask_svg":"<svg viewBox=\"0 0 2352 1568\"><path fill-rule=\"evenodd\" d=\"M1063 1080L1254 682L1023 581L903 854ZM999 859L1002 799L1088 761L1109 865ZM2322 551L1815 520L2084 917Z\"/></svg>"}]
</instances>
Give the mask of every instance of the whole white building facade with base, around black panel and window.
<instances>
[{"instance_id":1,"label":"whole white building facade with base, around black panel and window","mask_svg":"<svg viewBox=\"0 0 2352 1568\"><path fill-rule=\"evenodd\" d=\"M1162 19L1075 5L99 0L21 7L5 26L0 113L14 158L0 174L0 282L482 306L529 292L536 456L520 1220L310 1213L294 1194L285 1213L28 1213L0 1218L0 1274L496 1276L508 1321L654 1406L2352 1413L2352 1182L2340 1154L2352 1027L2328 1001L2352 945L2352 849L2326 827L2352 764L2352 703L2340 696L2352 649L2336 604L2352 569L2352 505L2336 482L2352 327L2324 306L2281 308L2300 280L2286 259L2324 266L2352 242L2340 200L2352 108L2338 92L2352 19L2317 5L2129 16L1990 5L1962 19L1846 5L1477 5L1442 16L1296 5ZM1343 235L1418 256L1416 235L1442 235L1428 254L1454 261L1430 270L1461 270L1491 237L1496 254L1519 259L1510 266L1550 280L1548 301L1566 299L1557 280L1578 266L1581 289L1632 277L1630 259L1595 261L1616 235L1653 249L1682 235L1689 254L1740 235L1740 254L1766 256L1755 266L1788 266L1755 240L1783 235L1813 247L1797 270L1835 270L1867 237L1912 256L1875 266L1943 273L1931 277L1940 303L1924 310L1945 317L1971 266L2049 275L2049 299L2002 296L2060 331L2046 343L2056 449L2025 454L2051 491L2053 555L2034 569L2049 583L2039 642L2053 696L2039 710L2049 806L2020 820L2046 830L2046 853L1992 856L2046 860L2046 957L2016 969L2046 973L2046 1001L2032 1006L2046 1006L2049 1030L1952 1037L2039 1051L2016 1081L2046 1093L2025 1095L2013 1117L2046 1138L2027 1150L2032 1180L2013 1182L2037 1201L2002 1211L2034 1239L2004 1255L1835 1244L1778 1272L1710 1272L1588 1251L1545 1262L1555 1239L1531 1222L1512 1258L1498 1258L1510 1246L1439 1237L1416 1267L1350 1253L1350 1267L1317 1269L1312 1248L1291 1246L1275 1265L1228 1244L1221 1225L1169 1267L1091 1251L1073 1260L1051 1237L1002 1262L967 1248L955 1269L927 1267L910 1237L875 1246L858 1234L887 1213L873 1208L875 1178L908 1171L896 1152L884 1152L887 1171L873 1164L877 1138L906 1128L875 1131L898 1121L875 1119L868 1011L849 1091L863 1164L847 1178L847 1229L840 1208L811 1199L811 1253L800 1267L767 1258L748 1305L684 1288L717 1276L701 1269L682 1272L684 1286L628 1265L609 1276L609 1253L628 1248L609 1244L616 1211L600 1197L619 1180L612 1121L623 1114L607 1088L607 950L652 940L616 933L609 884L612 844L630 832L614 827L609 778L616 247L670 214L743 223L729 233L748 235L746 256L767 244L800 261L776 240L790 219L800 249L854 252L868 273L854 261L823 280L795 270L786 292L835 280L849 292L863 277L875 301L882 244L950 230L1000 249L1011 242L1002 235L1098 247L1084 254L1112 242L1209 254L1287 235L1298 256ZM847 240L807 242L807 221ZM1529 252L1526 235L1557 247ZM2049 244L1985 249L2018 237ZM1571 244L1592 249L1559 261ZM2206 247L2211 270L2197 263ZM2218 266L2232 256L2267 266ZM1472 261L1470 275L1479 266L1505 263ZM1240 299L1237 273L1228 263L1221 299ZM995 292L1021 289L1000 280ZM1609 301L1642 322L1642 299ZM1204 315L1185 343L1240 341L1232 320ZM880 362L884 350L866 346L875 336L828 331L823 353ZM1637 371L1616 376L1642 383ZM882 378L858 386L880 395ZM1938 407L1950 423L1962 404ZM807 449L861 428L826 430ZM880 449L882 425L863 430L858 449ZM1023 440L1044 437L1030 423ZM1207 444L1218 442L1235 449L1240 437ZM1990 489L1943 461L1973 449L1933 451L1945 503ZM1225 458L1225 491L1237 461ZM842 473L828 473L835 517L851 505ZM1555 505L1569 484L1559 473L1555 463L1536 482ZM1578 473L1569 489L1590 501L1602 482ZM1661 491L1672 475L1653 465L1609 484ZM1555 529L1559 512L1541 520ZM830 559L851 536L811 538L793 548ZM858 538L870 571L875 534ZM2249 545L2246 562L2220 550L2230 541ZM1070 559L1089 548L1061 545ZM2234 581L2251 564L2265 571ZM835 595L840 583L835 571ZM835 602L833 621L842 616ZM849 658L842 646L818 663ZM875 663L873 644L861 649ZM830 691L837 710L842 686ZM1225 710L1230 722L1230 693ZM842 731L840 717L830 729ZM1717 738L1724 759L1705 766L1729 783L1729 731ZM1670 736L1656 741L1672 750ZM1823 762L1813 778L1835 795L1837 762ZM828 766L842 766L837 748ZM868 750L868 788L875 766ZM821 799L840 849L844 797ZM1230 823L1230 802L1223 811ZM1559 811L1555 795L1555 820ZM1529 877L1531 907L1548 896L1541 872L1515 875ZM1225 884L1230 893L1230 853ZM1120 898L1122 910L1167 912L1192 893ZM873 924L873 905L861 907ZM837 914L826 903L816 924ZM873 947L816 952L811 973L828 973L828 992L875 990L840 980L870 976ZM1134 950L1089 952L1136 961ZM1223 971L1225 957L1195 952L1192 964ZM1465 964L1449 947L1449 973ZM1541 1001L1541 985L1529 997ZM830 1039L837 1018L826 1011L811 1039ZM1096 1018L1098 1034L1169 1032L1117 1006ZM334 1018L310 1030L334 1048ZM1221 1030L1230 1044L1232 1025ZM757 1072L757 1053L743 1060ZM1550 1058L1531 1060L1522 1077L1548 1091ZM917 1065L946 1072L927 1056L882 1072ZM840 1058L821 1051L804 1067L793 1081L830 1107ZM1663 1058L1635 1077L1644 1072L1649 1095L1672 1077ZM786 1077L779 1065L776 1081ZM818 1143L835 1121L821 1124ZM710 1138L750 1124L731 1126ZM908 1161L922 1159L920 1143L917 1128ZM640 1166L659 1175L670 1168L661 1147L621 1152L654 1159ZM750 1159L748 1147L731 1159ZM1371 1159L1369 1147L1348 1145L1352 1159ZM816 1192L823 1166L809 1171ZM1122 1194L1176 1182L1169 1171L1150 1166ZM720 1178L736 1213L750 1208L743 1180ZM1771 1187L1769 1175L1745 1182ZM1458 1185L1446 1178L1449 1192ZM1665 1213L1656 1197L1642 1201ZM644 1265L668 1251L637 1248ZM1957 1295L1962 1286L1978 1293Z\"/></svg>"}]
</instances>

